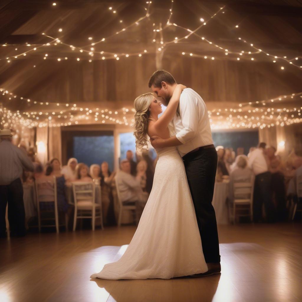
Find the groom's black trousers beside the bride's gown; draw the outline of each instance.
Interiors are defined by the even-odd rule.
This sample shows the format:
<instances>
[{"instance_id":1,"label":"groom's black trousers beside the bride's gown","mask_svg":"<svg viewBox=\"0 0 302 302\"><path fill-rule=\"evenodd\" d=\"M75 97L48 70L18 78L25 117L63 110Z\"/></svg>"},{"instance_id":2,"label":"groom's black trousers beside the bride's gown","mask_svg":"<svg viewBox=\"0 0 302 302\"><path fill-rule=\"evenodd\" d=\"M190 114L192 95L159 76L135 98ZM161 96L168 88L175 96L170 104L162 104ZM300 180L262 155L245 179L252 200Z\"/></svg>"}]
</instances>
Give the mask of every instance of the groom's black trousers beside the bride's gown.
<instances>
[{"instance_id":1,"label":"groom's black trousers beside the bride's gown","mask_svg":"<svg viewBox=\"0 0 302 302\"><path fill-rule=\"evenodd\" d=\"M183 157L190 187L204 259L220 262L215 210L212 205L217 171L216 149L199 149Z\"/></svg>"}]
</instances>

